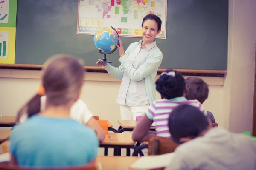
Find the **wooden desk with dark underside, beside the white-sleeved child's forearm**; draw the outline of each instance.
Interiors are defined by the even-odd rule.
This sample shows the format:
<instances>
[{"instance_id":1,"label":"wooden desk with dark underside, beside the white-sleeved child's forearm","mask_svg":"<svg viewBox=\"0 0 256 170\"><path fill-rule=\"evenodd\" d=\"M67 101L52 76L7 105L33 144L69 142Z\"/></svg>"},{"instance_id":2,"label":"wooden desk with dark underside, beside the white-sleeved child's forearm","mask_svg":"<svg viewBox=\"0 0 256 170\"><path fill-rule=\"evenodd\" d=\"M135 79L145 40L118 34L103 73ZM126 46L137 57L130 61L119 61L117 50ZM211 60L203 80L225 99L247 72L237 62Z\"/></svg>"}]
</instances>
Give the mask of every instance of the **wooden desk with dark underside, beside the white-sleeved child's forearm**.
<instances>
[{"instance_id":1,"label":"wooden desk with dark underside, beside the white-sleeved child's forearm","mask_svg":"<svg viewBox=\"0 0 256 170\"><path fill-rule=\"evenodd\" d=\"M111 139L110 139L111 137ZM99 147L104 148L104 155L108 155L108 148L114 148L114 155L121 155L121 148L126 148L126 155L131 155L130 149L136 149L131 133L108 133Z\"/></svg>"}]
</instances>

